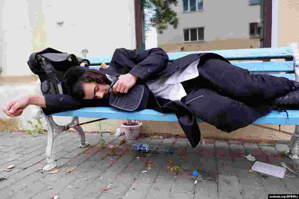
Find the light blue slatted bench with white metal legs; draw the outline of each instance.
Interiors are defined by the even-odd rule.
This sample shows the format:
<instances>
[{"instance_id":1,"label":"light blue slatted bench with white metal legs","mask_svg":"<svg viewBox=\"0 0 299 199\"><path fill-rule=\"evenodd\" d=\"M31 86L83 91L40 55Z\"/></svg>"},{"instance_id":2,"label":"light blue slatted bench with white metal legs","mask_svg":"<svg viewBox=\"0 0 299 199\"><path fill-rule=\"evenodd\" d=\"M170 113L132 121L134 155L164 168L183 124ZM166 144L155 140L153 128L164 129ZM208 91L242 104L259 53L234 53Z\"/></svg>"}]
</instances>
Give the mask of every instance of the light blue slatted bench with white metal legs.
<instances>
[{"instance_id":1,"label":"light blue slatted bench with white metal legs","mask_svg":"<svg viewBox=\"0 0 299 199\"><path fill-rule=\"evenodd\" d=\"M203 51L201 51L203 52ZM228 60L262 60L262 59L283 59L276 60L275 62L234 62L234 65L248 69L250 72L271 72L275 76L287 77L292 80L299 80L298 69L299 65L299 51L298 45L292 44L292 47L279 47L279 48L257 48L257 49L235 49L235 50L215 50L205 51L213 52L222 55ZM199 52L174 52L168 53L169 59L174 60L179 57L183 57L187 54L199 53ZM90 57L90 68L98 69L101 63L107 63L111 61L112 57ZM281 74L280 72L284 72ZM254 124L289 124L296 125L295 133L291 134L292 139L289 145L290 151L286 152L286 155L290 158L298 158L298 142L299 142L299 110L288 110L289 117L286 117L286 113L280 113L278 111L272 111L266 116L257 119ZM38 119L43 117L41 111L37 111L33 114L34 118ZM105 119L136 119L136 120L153 120L153 121L178 121L175 113L164 114L154 110L142 110L138 112L126 112L116 110L110 107L93 107L82 108L73 111L66 111L62 113L53 114L53 116L71 116L71 122L65 126L57 125L52 116L45 116L48 122L48 146L46 151L48 165L43 170L48 171L57 166L54 162L54 144L62 131L68 129L69 126L79 124L79 117L89 118L105 118ZM197 121L201 121L197 118ZM86 147L89 143L85 140L85 134L80 126L74 127L79 133L81 145L80 147Z\"/></svg>"}]
</instances>

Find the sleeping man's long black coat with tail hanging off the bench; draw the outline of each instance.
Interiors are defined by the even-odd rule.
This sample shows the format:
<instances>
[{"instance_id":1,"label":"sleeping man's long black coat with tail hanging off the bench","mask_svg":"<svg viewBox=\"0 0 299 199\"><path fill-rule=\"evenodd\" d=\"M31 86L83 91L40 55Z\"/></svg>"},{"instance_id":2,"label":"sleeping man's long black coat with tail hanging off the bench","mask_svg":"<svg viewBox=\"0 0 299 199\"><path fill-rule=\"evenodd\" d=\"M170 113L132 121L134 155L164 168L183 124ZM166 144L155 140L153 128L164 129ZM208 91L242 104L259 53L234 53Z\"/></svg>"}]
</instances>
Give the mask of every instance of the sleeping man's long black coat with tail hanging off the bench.
<instances>
[{"instance_id":1,"label":"sleeping man's long black coat with tail hanging off the bench","mask_svg":"<svg viewBox=\"0 0 299 199\"><path fill-rule=\"evenodd\" d=\"M100 70L107 75L116 77L127 73L137 75L139 77L137 83L145 83L184 69L199 58L217 58L229 63L224 57L214 53L189 54L169 62L168 55L161 48L152 48L140 52L137 50L118 48L113 54L109 67ZM77 99L70 95L46 94L45 101L47 108L43 108L43 110L46 115L83 107L108 107L108 101L106 99ZM181 101L171 101L157 97L155 101L148 104L147 108L157 110L161 113L175 112L179 124L192 147L198 145L200 141L200 130L196 123L196 117L193 111Z\"/></svg>"}]
</instances>

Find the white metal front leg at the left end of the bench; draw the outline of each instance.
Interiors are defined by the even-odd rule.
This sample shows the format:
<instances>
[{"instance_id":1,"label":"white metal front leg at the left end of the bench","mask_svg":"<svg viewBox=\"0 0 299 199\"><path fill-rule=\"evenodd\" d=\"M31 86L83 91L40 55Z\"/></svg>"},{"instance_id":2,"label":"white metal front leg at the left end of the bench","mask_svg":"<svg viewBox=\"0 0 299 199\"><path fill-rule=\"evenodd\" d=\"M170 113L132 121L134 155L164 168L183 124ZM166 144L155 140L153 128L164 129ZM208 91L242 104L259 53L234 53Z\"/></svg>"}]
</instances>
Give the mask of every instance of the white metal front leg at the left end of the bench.
<instances>
[{"instance_id":1,"label":"white metal front leg at the left end of the bench","mask_svg":"<svg viewBox=\"0 0 299 199\"><path fill-rule=\"evenodd\" d=\"M48 145L46 151L47 165L42 169L43 171L49 171L52 168L57 166L57 163L54 161L54 146L55 142L62 131L66 130L66 126L57 125L52 116L45 116L47 121L47 136L48 136Z\"/></svg>"}]
</instances>

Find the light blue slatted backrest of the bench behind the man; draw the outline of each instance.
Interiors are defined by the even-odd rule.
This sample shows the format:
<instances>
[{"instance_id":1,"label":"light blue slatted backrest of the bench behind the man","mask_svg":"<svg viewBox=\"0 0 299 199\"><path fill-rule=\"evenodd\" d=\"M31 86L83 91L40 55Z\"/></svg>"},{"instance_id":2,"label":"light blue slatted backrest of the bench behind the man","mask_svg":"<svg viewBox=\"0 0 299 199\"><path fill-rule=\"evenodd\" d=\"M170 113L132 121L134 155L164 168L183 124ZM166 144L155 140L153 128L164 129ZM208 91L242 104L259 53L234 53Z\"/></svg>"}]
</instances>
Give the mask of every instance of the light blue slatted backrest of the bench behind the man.
<instances>
[{"instance_id":1,"label":"light blue slatted backrest of the bench behind the man","mask_svg":"<svg viewBox=\"0 0 299 199\"><path fill-rule=\"evenodd\" d=\"M293 50L292 47L277 47L277 48L249 48L249 49L233 49L233 50L214 50L214 51L194 51L194 52L172 52L167 53L169 60L175 60L180 57L184 57L188 54L212 52L220 54L239 67L248 69L249 72L271 72L275 76L283 76L292 80L296 79L294 74L295 63L293 61ZM98 69L99 65L103 62L109 64L112 56L98 56L87 58L91 66L90 68ZM257 60L265 59L283 59L272 62L265 62ZM242 60L240 62L240 60ZM246 60L246 61L245 61ZM248 62L255 61L255 62ZM238 61L238 62L235 62ZM273 74L277 72L277 74ZM286 74L281 74L285 72Z\"/></svg>"}]
</instances>

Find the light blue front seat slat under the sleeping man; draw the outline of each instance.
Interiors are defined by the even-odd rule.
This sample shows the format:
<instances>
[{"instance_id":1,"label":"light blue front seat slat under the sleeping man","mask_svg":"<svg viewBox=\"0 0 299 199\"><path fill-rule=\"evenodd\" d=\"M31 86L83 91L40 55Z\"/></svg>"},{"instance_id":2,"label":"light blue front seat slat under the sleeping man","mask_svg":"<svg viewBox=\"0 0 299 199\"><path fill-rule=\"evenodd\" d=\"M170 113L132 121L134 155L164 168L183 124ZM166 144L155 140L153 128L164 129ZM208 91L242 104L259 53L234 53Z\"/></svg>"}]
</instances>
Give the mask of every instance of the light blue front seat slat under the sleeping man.
<instances>
[{"instance_id":1,"label":"light blue front seat slat under the sleeping man","mask_svg":"<svg viewBox=\"0 0 299 199\"><path fill-rule=\"evenodd\" d=\"M257 119L254 124L299 124L299 110L288 110L286 113L272 111L271 113ZM138 112L126 112L115 110L110 107L82 108L78 110L66 111L53 114L53 116L89 117L89 118L109 118L109 119L136 119L150 121L178 121L175 113L159 113L155 110L142 110ZM199 118L197 121L202 122Z\"/></svg>"}]
</instances>

